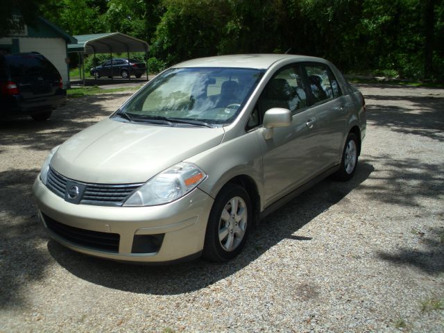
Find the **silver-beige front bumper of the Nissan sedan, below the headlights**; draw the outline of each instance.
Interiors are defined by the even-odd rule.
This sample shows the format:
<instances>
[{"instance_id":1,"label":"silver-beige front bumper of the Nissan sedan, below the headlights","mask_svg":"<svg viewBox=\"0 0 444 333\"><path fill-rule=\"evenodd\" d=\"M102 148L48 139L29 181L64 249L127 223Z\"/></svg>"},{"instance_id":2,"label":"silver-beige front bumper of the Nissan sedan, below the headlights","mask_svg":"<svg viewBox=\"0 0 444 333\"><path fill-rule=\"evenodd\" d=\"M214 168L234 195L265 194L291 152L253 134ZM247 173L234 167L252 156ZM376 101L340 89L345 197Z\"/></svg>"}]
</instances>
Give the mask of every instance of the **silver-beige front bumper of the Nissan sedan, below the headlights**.
<instances>
[{"instance_id":1,"label":"silver-beige front bumper of the Nissan sedan, below the headlights","mask_svg":"<svg viewBox=\"0 0 444 333\"><path fill-rule=\"evenodd\" d=\"M34 182L33 194L40 219L53 239L80 253L126 262L173 262L198 255L203 250L207 220L213 204L213 199L205 192L194 189L173 203L152 207L76 205L53 194L42 183L40 176ZM98 234L98 237L102 233L117 234L117 248L108 250L73 241L71 237L65 237L64 232L53 228L54 221L62 223L63 227L74 233L78 228L83 233ZM144 248L143 244L140 246L144 235L152 235L160 241L158 249L148 253L135 250Z\"/></svg>"}]
</instances>

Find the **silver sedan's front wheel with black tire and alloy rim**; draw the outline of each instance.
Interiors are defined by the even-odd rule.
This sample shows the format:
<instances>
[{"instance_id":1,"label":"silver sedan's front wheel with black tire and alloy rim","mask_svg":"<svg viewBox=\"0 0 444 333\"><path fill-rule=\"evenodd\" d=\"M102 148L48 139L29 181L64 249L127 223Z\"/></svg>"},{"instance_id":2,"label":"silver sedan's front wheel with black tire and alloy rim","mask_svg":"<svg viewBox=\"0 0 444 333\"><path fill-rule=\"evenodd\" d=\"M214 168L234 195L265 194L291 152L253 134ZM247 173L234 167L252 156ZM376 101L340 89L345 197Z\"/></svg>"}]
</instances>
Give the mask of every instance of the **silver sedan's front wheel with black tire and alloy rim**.
<instances>
[{"instance_id":1,"label":"silver sedan's front wheel with black tire and alloy rim","mask_svg":"<svg viewBox=\"0 0 444 333\"><path fill-rule=\"evenodd\" d=\"M225 185L216 196L208 218L203 257L214 262L227 262L239 255L252 219L247 191L239 185Z\"/></svg>"}]
</instances>

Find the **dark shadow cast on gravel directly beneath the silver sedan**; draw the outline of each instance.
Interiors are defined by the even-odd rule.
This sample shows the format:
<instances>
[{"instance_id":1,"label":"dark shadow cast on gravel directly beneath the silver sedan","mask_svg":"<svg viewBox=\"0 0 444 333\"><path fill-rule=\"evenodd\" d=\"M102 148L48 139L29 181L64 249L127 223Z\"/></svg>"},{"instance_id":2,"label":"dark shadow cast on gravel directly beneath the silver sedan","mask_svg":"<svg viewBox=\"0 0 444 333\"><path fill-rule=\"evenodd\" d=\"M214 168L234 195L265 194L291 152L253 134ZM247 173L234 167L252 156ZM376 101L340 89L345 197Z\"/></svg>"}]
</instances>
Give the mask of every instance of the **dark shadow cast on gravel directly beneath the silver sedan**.
<instances>
[{"instance_id":1,"label":"dark shadow cast on gravel directly beneath the silver sedan","mask_svg":"<svg viewBox=\"0 0 444 333\"><path fill-rule=\"evenodd\" d=\"M333 182L330 179L318 183L280 210L267 218L250 234L244 251L231 262L215 264L198 259L194 262L171 266L137 266L109 262L87 257L49 241L49 253L67 271L103 287L158 295L173 295L203 289L226 278L278 244L282 239L305 241L311 237L299 237L297 232L332 205L345 200L352 189L364 182L374 171L368 163L359 168L350 182Z\"/></svg>"}]
</instances>

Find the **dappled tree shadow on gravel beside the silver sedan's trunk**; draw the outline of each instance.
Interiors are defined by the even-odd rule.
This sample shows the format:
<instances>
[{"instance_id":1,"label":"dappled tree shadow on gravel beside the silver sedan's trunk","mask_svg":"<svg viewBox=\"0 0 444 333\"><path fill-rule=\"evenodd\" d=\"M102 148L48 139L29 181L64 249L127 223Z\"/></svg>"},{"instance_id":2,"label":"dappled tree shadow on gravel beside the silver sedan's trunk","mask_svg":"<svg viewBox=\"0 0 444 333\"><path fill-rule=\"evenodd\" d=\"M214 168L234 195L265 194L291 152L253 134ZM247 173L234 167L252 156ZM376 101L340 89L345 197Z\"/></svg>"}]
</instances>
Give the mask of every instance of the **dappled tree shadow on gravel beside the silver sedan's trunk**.
<instances>
[{"instance_id":1,"label":"dappled tree shadow on gravel beside the silver sedan's trunk","mask_svg":"<svg viewBox=\"0 0 444 333\"><path fill-rule=\"evenodd\" d=\"M366 95L367 119L397 133L420 135L444 142L444 98ZM372 105L371 100L410 103L409 108Z\"/></svg>"}]
</instances>

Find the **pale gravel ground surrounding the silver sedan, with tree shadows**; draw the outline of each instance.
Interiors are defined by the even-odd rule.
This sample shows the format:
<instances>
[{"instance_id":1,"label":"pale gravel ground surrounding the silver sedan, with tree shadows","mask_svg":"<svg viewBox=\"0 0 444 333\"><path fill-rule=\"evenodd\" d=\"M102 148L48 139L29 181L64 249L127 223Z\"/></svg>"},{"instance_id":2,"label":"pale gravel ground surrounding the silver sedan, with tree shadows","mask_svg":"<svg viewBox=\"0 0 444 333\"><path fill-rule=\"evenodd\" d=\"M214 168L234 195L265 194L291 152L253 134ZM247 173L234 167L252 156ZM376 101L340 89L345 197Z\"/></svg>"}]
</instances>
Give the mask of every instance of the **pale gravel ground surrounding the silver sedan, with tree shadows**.
<instances>
[{"instance_id":1,"label":"pale gravel ground surrounding the silver sedan, with tree shadows","mask_svg":"<svg viewBox=\"0 0 444 333\"><path fill-rule=\"evenodd\" d=\"M355 178L268 216L227 264L117 264L46 236L31 196L44 157L130 94L0 123L0 332L443 332L444 90L359 89Z\"/></svg>"}]
</instances>

